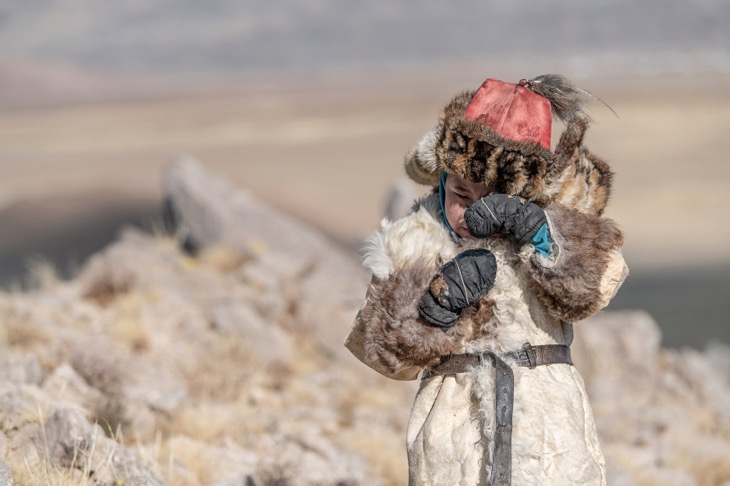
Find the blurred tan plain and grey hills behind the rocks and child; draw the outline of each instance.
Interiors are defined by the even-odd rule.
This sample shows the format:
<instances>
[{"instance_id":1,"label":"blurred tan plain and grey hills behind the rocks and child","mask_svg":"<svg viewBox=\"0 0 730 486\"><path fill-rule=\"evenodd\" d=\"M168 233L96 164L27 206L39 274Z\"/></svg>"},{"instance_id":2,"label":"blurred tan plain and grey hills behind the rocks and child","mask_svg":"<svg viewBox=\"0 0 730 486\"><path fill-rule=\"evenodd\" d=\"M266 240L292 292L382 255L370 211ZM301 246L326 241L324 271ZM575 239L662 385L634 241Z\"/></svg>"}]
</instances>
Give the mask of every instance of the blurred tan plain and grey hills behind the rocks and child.
<instances>
[{"instance_id":1,"label":"blurred tan plain and grey hills behind the rocks and child","mask_svg":"<svg viewBox=\"0 0 730 486\"><path fill-rule=\"evenodd\" d=\"M0 1L0 288L159 227L181 153L358 248L457 91L559 72L618 114L588 135L631 268L611 308L728 343L728 25L728 0Z\"/></svg>"}]
</instances>

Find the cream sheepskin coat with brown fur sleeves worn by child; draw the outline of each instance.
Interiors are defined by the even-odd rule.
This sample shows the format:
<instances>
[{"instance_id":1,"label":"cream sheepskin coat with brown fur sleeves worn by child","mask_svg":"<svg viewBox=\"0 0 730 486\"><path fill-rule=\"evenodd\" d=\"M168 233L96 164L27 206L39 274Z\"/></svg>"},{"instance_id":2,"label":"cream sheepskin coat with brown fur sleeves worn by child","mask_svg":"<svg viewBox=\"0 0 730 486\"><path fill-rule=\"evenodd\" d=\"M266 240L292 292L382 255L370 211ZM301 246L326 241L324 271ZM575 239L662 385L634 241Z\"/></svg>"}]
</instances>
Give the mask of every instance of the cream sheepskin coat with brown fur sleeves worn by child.
<instances>
[{"instance_id":1,"label":"cream sheepskin coat with brown fur sleeves worn by child","mask_svg":"<svg viewBox=\"0 0 730 486\"><path fill-rule=\"evenodd\" d=\"M572 322L605 307L626 277L622 235L607 218L560 205L545 211L554 240L550 257L529 244L517 249L501 235L454 241L437 194L402 219L384 220L369 242L365 266L372 282L345 345L397 380L416 379L450 354L503 354L527 342L570 345ZM469 248L494 253L495 284L444 332L419 315L418 302L441 265ZM578 371L507 362L515 376L512 484L606 484ZM494 367L486 360L467 373L423 379L407 432L409 484L488 484L494 407Z\"/></svg>"}]
</instances>

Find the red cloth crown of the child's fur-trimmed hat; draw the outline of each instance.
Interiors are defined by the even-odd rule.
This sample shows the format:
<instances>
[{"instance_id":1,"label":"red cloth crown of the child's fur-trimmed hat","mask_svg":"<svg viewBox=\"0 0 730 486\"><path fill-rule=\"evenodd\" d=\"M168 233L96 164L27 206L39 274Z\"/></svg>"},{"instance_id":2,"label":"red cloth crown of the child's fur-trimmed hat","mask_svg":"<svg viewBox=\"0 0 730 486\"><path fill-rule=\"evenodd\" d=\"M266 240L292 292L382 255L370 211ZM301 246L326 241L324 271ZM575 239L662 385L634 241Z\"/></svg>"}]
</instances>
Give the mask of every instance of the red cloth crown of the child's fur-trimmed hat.
<instances>
[{"instance_id":1,"label":"red cloth crown of the child's fur-trimmed hat","mask_svg":"<svg viewBox=\"0 0 730 486\"><path fill-rule=\"evenodd\" d=\"M538 143L550 150L550 101L520 84L487 79L466 107L467 120L485 125L516 142Z\"/></svg>"}]
</instances>

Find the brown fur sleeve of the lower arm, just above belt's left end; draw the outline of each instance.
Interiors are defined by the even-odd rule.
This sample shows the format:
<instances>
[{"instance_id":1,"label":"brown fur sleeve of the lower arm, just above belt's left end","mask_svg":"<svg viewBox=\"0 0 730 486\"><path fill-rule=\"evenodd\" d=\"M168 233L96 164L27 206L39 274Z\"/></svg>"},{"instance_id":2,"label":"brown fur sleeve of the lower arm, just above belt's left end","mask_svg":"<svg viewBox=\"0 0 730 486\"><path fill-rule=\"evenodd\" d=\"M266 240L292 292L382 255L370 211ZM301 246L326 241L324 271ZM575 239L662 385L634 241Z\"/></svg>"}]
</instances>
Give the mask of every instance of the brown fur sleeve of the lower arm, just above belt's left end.
<instances>
[{"instance_id":1,"label":"brown fur sleeve of the lower arm, just above belt's left end","mask_svg":"<svg viewBox=\"0 0 730 486\"><path fill-rule=\"evenodd\" d=\"M434 271L431 265L417 263L382 280L373 277L345 341L360 361L389 378L412 380L439 357L463 349L473 312L447 332L429 325L418 313Z\"/></svg>"}]
</instances>

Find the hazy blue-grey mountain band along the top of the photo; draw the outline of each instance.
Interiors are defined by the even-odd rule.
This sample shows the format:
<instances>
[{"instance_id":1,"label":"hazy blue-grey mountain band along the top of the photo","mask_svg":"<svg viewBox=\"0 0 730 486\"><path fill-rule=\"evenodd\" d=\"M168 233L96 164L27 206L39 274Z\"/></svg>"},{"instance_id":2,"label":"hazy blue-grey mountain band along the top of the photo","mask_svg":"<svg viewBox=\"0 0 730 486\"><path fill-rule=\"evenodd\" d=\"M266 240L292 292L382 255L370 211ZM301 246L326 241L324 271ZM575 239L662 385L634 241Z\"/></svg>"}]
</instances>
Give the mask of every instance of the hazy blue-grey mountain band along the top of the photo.
<instances>
[{"instance_id":1,"label":"hazy blue-grey mountain band along the top of the photo","mask_svg":"<svg viewBox=\"0 0 730 486\"><path fill-rule=\"evenodd\" d=\"M172 76L546 57L585 75L727 72L728 25L728 0L4 0L0 61Z\"/></svg>"}]
</instances>

